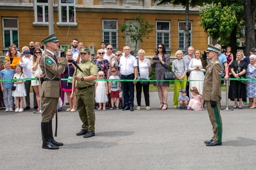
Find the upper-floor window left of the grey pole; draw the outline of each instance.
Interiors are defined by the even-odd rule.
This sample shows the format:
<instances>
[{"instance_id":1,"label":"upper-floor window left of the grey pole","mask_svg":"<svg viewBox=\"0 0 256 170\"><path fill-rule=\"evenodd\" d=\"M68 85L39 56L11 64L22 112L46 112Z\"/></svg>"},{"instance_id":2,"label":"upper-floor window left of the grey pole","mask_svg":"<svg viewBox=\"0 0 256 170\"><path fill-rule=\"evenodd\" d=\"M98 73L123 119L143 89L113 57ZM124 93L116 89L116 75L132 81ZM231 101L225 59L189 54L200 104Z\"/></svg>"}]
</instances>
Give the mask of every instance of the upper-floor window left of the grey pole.
<instances>
[{"instance_id":1,"label":"upper-floor window left of the grey pole","mask_svg":"<svg viewBox=\"0 0 256 170\"><path fill-rule=\"evenodd\" d=\"M49 24L48 0L35 0L35 23L33 24Z\"/></svg>"}]
</instances>

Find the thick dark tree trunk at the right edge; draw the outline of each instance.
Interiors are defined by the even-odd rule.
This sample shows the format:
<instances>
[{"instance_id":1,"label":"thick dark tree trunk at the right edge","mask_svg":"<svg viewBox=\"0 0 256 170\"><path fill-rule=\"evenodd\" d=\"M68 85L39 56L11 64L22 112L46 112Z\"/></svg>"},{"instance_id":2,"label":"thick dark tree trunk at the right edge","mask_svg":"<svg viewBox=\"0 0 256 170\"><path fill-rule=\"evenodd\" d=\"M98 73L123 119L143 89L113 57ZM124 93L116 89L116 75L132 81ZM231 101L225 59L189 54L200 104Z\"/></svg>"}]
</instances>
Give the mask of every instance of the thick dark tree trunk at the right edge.
<instances>
[{"instance_id":1,"label":"thick dark tree trunk at the right edge","mask_svg":"<svg viewBox=\"0 0 256 170\"><path fill-rule=\"evenodd\" d=\"M256 0L244 0L244 32L246 38L245 55L250 54L250 49L255 47L255 13Z\"/></svg>"}]
</instances>

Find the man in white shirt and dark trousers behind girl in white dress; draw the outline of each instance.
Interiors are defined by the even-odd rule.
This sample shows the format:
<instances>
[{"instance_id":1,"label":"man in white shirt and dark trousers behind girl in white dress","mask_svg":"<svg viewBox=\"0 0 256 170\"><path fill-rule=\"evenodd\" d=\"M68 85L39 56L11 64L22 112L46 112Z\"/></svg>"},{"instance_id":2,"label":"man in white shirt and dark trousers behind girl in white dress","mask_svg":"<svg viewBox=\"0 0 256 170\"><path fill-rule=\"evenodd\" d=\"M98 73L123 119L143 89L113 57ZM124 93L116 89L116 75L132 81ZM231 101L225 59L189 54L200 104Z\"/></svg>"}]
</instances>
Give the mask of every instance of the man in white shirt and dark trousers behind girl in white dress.
<instances>
[{"instance_id":1,"label":"man in white shirt and dark trousers behind girl in white dress","mask_svg":"<svg viewBox=\"0 0 256 170\"><path fill-rule=\"evenodd\" d=\"M19 65L22 67L22 72L24 73L25 78L31 78L31 65L33 64L33 56L30 54L23 54L23 52L30 52L30 49L28 46L22 47L22 52L21 52L21 57L19 60ZM25 89L26 89L26 107L25 111L30 109L30 86L31 86L31 81L25 81ZM37 100L35 98L35 93L34 93L34 109L37 109Z\"/></svg>"}]
</instances>

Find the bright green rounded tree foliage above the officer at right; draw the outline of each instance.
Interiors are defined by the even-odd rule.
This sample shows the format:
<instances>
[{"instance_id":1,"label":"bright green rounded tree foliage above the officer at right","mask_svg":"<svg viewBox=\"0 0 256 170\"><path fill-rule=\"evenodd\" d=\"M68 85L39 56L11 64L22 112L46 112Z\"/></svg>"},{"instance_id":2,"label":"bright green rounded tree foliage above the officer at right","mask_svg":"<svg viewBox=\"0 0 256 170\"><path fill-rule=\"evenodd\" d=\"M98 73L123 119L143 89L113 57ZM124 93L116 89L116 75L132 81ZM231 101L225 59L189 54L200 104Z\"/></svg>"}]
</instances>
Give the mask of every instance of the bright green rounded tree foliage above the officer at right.
<instances>
[{"instance_id":1,"label":"bright green rounded tree foliage above the officer at right","mask_svg":"<svg viewBox=\"0 0 256 170\"><path fill-rule=\"evenodd\" d=\"M233 27L237 24L235 10L229 6L222 8L221 3L203 6L200 10L200 17L202 20L199 22L200 26L212 38L230 35Z\"/></svg>"}]
</instances>

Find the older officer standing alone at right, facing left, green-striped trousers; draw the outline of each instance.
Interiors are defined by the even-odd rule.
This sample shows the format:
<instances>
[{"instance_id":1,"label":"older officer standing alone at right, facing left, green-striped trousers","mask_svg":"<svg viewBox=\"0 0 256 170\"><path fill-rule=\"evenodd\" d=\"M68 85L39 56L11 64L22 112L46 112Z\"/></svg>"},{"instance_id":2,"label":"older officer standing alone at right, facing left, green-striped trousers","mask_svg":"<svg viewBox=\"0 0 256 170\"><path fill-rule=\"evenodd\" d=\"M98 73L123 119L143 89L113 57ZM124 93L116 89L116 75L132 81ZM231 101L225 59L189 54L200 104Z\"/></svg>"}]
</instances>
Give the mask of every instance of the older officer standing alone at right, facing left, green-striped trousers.
<instances>
[{"instance_id":1,"label":"older officer standing alone at right, facing left, green-striped trousers","mask_svg":"<svg viewBox=\"0 0 256 170\"><path fill-rule=\"evenodd\" d=\"M221 145L222 138L222 121L220 115L221 100L221 74L222 64L219 61L219 49L208 45L207 57L210 59L209 65L206 66L205 81L203 83L203 99L207 104L207 111L212 123L213 136L210 141L205 141L206 146Z\"/></svg>"}]
</instances>

